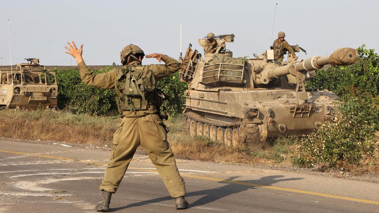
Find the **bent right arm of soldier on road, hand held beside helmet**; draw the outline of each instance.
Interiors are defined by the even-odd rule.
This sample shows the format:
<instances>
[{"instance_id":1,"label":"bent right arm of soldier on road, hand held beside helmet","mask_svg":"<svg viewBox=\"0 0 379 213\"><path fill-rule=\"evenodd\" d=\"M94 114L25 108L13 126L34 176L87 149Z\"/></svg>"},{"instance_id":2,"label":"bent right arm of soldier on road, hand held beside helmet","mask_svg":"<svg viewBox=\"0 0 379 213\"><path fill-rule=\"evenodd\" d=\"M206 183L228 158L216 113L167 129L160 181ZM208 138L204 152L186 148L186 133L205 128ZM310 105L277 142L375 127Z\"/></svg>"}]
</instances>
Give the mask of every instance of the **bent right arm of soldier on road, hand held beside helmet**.
<instances>
[{"instance_id":1,"label":"bent right arm of soldier on road, hand held beside helmet","mask_svg":"<svg viewBox=\"0 0 379 213\"><path fill-rule=\"evenodd\" d=\"M182 64L179 61L171 58L167 55L163 55L160 53L152 53L150 55L146 55L146 58L157 58L158 61L163 61L166 64L152 64L150 65L150 70L153 72L155 76L155 80L160 80L163 77L174 74L176 71L182 67Z\"/></svg>"}]
</instances>

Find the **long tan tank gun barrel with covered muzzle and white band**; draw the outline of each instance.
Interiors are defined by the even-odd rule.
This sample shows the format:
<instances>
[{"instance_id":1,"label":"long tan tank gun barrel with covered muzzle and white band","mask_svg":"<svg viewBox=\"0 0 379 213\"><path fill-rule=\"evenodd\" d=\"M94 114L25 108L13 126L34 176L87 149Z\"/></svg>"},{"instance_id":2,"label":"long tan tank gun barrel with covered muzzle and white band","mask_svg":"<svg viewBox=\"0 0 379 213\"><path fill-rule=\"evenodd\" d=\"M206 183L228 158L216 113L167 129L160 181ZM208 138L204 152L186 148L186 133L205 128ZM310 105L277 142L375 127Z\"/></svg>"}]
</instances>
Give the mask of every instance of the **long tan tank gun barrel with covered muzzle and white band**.
<instances>
[{"instance_id":1,"label":"long tan tank gun barrel with covered muzzle and white band","mask_svg":"<svg viewBox=\"0 0 379 213\"><path fill-rule=\"evenodd\" d=\"M268 84L269 81L280 78L284 75L296 75L296 72L306 74L309 71L323 68L326 64L345 66L358 62L358 51L353 48L340 48L335 50L331 55L321 57L313 56L296 64L288 64L275 68L263 70L262 74L257 77L255 83L257 85Z\"/></svg>"}]
</instances>

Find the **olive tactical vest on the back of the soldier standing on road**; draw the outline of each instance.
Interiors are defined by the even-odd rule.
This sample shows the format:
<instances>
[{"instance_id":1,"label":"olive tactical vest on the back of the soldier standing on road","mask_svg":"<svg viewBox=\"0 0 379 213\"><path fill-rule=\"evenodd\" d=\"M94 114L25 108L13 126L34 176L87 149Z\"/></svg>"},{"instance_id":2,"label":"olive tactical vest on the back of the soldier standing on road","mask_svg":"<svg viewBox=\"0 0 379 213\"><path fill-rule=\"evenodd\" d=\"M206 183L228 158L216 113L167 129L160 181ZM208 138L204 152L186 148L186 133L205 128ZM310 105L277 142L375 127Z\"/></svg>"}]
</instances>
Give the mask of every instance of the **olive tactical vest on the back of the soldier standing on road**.
<instances>
[{"instance_id":1,"label":"olive tactical vest on the back of the soldier standing on road","mask_svg":"<svg viewBox=\"0 0 379 213\"><path fill-rule=\"evenodd\" d=\"M157 108L155 78L149 66L125 66L116 78L119 113Z\"/></svg>"}]
</instances>

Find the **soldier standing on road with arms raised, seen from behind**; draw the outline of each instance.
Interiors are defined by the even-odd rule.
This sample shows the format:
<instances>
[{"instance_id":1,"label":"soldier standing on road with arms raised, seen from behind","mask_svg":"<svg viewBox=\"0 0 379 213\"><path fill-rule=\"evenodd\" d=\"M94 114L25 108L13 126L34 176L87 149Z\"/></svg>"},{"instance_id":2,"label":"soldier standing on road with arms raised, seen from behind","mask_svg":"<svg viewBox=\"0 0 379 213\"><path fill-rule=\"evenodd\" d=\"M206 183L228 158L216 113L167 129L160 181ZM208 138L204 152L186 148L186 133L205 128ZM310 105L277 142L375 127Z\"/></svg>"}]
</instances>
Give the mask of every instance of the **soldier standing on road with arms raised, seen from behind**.
<instances>
[{"instance_id":1,"label":"soldier standing on road with arms raised, seen from behind","mask_svg":"<svg viewBox=\"0 0 379 213\"><path fill-rule=\"evenodd\" d=\"M166 128L157 111L156 81L177 72L181 64L167 55L152 53L146 58L157 58L163 64L142 66L144 52L130 44L121 51L122 69L107 73L92 74L81 56L83 45L77 49L75 43L65 47L78 63L81 80L99 89L116 89L119 111L124 118L113 136L113 149L100 185L102 198L96 211L108 211L112 193L116 193L130 161L141 144L157 168L169 194L175 198L176 209L185 209L185 183L176 166L175 157L167 142Z\"/></svg>"}]
</instances>

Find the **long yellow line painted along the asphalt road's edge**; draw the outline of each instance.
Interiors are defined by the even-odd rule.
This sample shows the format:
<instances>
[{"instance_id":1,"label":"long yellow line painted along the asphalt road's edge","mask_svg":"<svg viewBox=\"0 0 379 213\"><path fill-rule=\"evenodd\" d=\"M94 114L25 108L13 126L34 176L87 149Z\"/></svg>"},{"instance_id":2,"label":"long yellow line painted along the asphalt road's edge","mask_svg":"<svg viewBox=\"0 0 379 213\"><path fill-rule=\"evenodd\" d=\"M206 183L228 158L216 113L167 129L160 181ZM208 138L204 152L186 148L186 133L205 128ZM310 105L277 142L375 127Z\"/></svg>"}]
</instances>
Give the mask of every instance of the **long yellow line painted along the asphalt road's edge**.
<instances>
[{"instance_id":1,"label":"long yellow line painted along the asphalt road's edge","mask_svg":"<svg viewBox=\"0 0 379 213\"><path fill-rule=\"evenodd\" d=\"M41 154L33 154L33 153L25 153L25 152L14 152L14 151L1 150L1 149L0 149L0 152L12 153L16 155L30 155L30 156L35 156L35 157L51 158L51 159L56 159L56 160L67 160L67 161L75 161L75 162L81 162L81 163L90 163L90 164L97 164L97 165L102 165L102 166L108 165L108 163L100 163L96 161L77 160L73 158L63 158L63 157L55 157L55 156L50 156L50 155L41 155ZM141 169L141 168L135 168L135 167L129 167L129 169L157 172L154 169ZM189 175L189 174L181 174L181 175L183 177L190 177L190 178L196 178L196 179L201 179L201 180L211 180L211 181L217 181L217 182L223 182L223 183L233 183L233 184L238 184L238 185L261 187L261 188L266 188L266 189L271 189L271 190L287 191L287 192L300 193L300 194L310 194L310 195L315 195L315 196L320 196L320 197L329 197L329 198L335 198L335 199L341 199L341 200L349 200L349 201L356 201L356 202L361 202L361 203L366 203L366 204L379 205L378 201L372 201L372 200L363 200L363 199L357 199L357 198L352 198L352 197L343 197L343 196L337 196L337 195L332 195L332 194L317 193L317 192L312 192L312 191L294 190L294 189L282 188L282 187L277 187L277 186L266 186L266 185L260 185L256 183L246 183L246 182L235 181L235 180L224 180L224 179L218 179L214 177L204 177L204 176Z\"/></svg>"}]
</instances>

